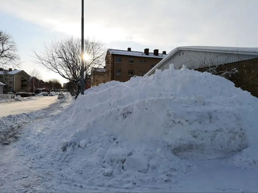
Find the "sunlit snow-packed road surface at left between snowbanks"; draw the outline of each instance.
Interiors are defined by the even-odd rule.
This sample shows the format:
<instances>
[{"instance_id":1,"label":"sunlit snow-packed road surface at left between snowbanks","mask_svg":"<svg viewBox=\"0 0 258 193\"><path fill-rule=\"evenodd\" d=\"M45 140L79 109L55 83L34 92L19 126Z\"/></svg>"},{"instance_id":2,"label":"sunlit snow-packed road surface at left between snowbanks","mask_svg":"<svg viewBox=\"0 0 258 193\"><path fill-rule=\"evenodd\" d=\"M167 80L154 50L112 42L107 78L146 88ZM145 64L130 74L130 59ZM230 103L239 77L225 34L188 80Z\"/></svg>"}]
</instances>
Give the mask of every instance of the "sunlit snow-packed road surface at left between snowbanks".
<instances>
[{"instance_id":1,"label":"sunlit snow-packed road surface at left between snowbanks","mask_svg":"<svg viewBox=\"0 0 258 193\"><path fill-rule=\"evenodd\" d=\"M59 100L57 96L44 96L31 101L1 104L0 117L37 111L49 106L57 100Z\"/></svg>"}]
</instances>

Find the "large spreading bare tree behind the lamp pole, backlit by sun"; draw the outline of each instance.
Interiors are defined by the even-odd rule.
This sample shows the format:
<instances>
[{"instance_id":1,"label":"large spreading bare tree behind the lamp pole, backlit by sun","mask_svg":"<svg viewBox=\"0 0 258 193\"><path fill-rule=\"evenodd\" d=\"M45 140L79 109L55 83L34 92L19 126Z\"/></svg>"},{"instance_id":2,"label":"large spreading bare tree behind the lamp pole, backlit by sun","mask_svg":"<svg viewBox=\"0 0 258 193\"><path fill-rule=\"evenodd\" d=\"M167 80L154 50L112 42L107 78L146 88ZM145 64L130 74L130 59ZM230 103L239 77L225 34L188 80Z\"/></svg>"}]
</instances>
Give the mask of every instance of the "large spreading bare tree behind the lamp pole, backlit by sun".
<instances>
[{"instance_id":1,"label":"large spreading bare tree behind the lamp pole, backlit by sun","mask_svg":"<svg viewBox=\"0 0 258 193\"><path fill-rule=\"evenodd\" d=\"M106 49L101 41L87 38L84 41L85 64L84 82L91 77L92 67L103 66ZM35 63L58 73L63 78L76 84L76 95L80 92L81 73L81 40L79 38L67 38L55 40L50 45L45 44L43 51L39 54L34 51Z\"/></svg>"}]
</instances>

